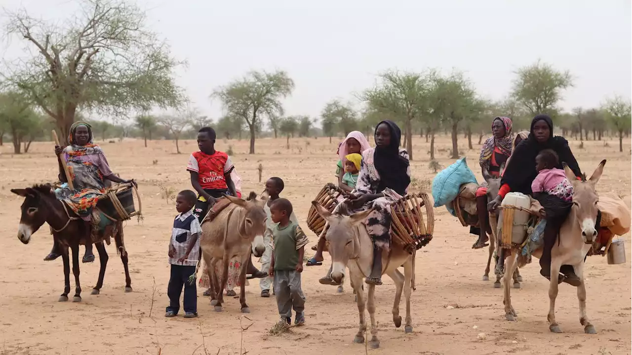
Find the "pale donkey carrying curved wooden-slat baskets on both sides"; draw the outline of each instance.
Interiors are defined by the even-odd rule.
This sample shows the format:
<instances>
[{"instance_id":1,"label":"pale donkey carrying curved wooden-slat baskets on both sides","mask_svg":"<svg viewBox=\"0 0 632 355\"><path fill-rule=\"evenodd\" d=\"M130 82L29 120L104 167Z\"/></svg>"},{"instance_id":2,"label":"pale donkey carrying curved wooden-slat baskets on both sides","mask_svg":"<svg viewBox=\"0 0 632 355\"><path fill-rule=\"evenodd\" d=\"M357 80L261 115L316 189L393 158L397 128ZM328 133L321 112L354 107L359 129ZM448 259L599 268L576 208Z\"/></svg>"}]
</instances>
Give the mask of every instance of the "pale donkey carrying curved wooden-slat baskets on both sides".
<instances>
[{"instance_id":1,"label":"pale donkey carrying curved wooden-slat baskets on both sides","mask_svg":"<svg viewBox=\"0 0 632 355\"><path fill-rule=\"evenodd\" d=\"M318 214L329 222L329 231L325 235L329 241L329 255L332 260L331 278L340 282L344 277L344 271L349 268L351 287L356 293L358 312L360 313L360 329L353 339L358 344L364 343L364 332L367 329L364 308L365 299L363 292L363 278L370 274L373 265L373 241L368 236L364 225L368 215L372 210L358 212L346 216L344 214L331 214L318 202L312 201ZM410 316L410 294L412 289L412 279L414 270L413 255L410 255L397 244L391 244L390 253L382 253L382 274L389 275L395 282L395 301L393 303L393 323L395 327L401 327L401 316L399 315L399 301L401 293L404 291L406 297L406 333L413 332L412 318ZM404 275L398 268L404 267ZM375 285L368 284L367 308L371 318L372 338L370 346L372 349L380 347L380 340L377 339L377 325L375 323Z\"/></svg>"}]
</instances>

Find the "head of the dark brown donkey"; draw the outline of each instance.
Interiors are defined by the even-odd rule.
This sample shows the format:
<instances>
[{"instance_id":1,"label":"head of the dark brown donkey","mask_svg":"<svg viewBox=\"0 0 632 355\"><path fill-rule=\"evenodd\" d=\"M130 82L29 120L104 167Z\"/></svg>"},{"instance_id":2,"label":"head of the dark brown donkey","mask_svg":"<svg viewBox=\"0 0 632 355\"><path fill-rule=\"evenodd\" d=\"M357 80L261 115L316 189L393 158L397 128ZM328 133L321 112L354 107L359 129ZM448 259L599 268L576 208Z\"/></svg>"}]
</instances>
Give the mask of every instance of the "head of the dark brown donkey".
<instances>
[{"instance_id":1,"label":"head of the dark brown donkey","mask_svg":"<svg viewBox=\"0 0 632 355\"><path fill-rule=\"evenodd\" d=\"M18 226L18 239L24 244L28 244L33 233L46 222L52 208L47 204L47 200L55 198L55 191L52 186L35 185L32 188L11 189L12 193L24 198L21 210L20 225Z\"/></svg>"}]
</instances>

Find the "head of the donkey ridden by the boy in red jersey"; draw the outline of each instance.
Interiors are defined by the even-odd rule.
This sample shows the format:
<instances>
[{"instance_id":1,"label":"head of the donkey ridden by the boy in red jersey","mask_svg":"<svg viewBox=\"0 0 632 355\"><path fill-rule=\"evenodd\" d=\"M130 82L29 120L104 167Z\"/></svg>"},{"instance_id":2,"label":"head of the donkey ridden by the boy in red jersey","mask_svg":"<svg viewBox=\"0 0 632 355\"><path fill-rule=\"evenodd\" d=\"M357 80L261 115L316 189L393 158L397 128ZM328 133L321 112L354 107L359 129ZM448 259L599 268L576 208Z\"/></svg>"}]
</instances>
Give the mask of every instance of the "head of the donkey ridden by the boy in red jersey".
<instances>
[{"instance_id":1,"label":"head of the donkey ridden by the boy in red jersey","mask_svg":"<svg viewBox=\"0 0 632 355\"><path fill-rule=\"evenodd\" d=\"M264 255L264 232L265 232L265 210L266 198L257 200L257 193L251 192L247 200L241 200L233 196L226 195L230 202L246 210L243 221L244 231L241 234L244 238L252 238L252 253L258 257Z\"/></svg>"}]
</instances>

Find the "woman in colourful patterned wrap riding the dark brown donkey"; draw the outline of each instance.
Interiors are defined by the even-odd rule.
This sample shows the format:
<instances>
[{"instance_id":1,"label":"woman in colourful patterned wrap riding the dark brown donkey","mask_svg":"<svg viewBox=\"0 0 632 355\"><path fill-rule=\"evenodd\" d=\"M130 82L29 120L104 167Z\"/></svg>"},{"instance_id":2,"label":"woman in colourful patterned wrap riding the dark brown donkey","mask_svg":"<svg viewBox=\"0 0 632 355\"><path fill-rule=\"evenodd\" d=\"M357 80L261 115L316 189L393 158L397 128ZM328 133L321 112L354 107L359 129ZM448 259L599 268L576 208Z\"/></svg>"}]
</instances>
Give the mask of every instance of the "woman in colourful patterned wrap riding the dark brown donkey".
<instances>
[{"instance_id":1,"label":"woman in colourful patterned wrap riding the dark brown donkey","mask_svg":"<svg viewBox=\"0 0 632 355\"><path fill-rule=\"evenodd\" d=\"M55 146L59 161L59 180L68 183L61 159L64 159L73 179L75 191L59 188L55 191L59 200L64 200L76 215L85 221L87 233L83 262L94 262L90 233L92 210L97 205L97 198L106 191L106 180L114 183L133 183L133 180L121 179L114 175L107 164L103 150L93 142L92 128L85 122L76 122L70 128L68 147ZM63 157L62 157L63 155ZM51 253L44 260L55 260L61 256L58 243L54 242Z\"/></svg>"}]
</instances>

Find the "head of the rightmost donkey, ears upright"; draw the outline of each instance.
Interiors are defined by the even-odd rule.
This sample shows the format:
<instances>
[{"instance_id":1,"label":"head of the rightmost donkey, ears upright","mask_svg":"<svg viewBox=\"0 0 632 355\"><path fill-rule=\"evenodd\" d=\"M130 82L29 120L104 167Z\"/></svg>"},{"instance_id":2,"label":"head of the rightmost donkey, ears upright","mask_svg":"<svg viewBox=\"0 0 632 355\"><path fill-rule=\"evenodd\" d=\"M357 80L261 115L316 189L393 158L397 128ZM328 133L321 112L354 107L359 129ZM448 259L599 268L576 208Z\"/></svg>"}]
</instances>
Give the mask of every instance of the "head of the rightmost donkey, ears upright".
<instances>
[{"instance_id":1,"label":"head of the rightmost donkey, ears upright","mask_svg":"<svg viewBox=\"0 0 632 355\"><path fill-rule=\"evenodd\" d=\"M595 238L597 238L595 222L597 221L599 195L597 195L597 191L595 191L595 185L604 172L604 165L605 159L599 163L599 166L595 169L590 179L586 180L586 176L583 175L581 180L578 180L568 165L564 164L566 178L568 178L573 185L572 211L576 221L580 224L581 239L586 244L592 244Z\"/></svg>"}]
</instances>

